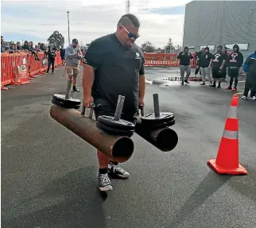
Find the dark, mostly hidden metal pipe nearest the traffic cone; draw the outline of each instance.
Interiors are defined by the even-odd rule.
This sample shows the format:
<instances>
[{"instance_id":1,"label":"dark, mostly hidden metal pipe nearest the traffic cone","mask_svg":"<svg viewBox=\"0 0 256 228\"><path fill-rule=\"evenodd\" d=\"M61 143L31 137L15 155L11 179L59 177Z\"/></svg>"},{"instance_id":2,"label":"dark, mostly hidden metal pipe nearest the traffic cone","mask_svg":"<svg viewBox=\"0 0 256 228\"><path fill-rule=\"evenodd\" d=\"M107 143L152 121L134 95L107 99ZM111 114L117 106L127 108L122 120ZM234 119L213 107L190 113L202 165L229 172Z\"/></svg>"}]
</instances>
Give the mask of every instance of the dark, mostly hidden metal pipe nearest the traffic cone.
<instances>
[{"instance_id":1,"label":"dark, mostly hidden metal pipe nearest the traffic cone","mask_svg":"<svg viewBox=\"0 0 256 228\"><path fill-rule=\"evenodd\" d=\"M149 143L157 147L157 149L164 152L173 150L178 143L178 135L169 127L149 129L142 126L141 120L138 120L136 123L135 132L138 133L139 136L143 137L146 141L149 141Z\"/></svg>"}]
</instances>

